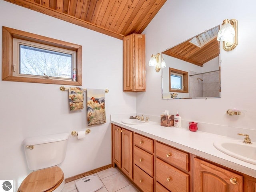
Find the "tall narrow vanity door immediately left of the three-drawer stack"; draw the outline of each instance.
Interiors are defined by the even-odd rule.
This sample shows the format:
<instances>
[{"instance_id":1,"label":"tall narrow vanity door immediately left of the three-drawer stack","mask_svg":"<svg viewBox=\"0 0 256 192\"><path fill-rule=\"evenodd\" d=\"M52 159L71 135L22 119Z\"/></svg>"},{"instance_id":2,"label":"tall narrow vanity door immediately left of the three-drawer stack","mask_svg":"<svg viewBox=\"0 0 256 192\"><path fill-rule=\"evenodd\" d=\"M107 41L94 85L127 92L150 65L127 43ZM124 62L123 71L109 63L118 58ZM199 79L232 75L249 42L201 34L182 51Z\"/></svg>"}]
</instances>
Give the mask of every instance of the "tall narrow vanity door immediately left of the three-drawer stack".
<instances>
[{"instance_id":1,"label":"tall narrow vanity door immediately left of the three-drawer stack","mask_svg":"<svg viewBox=\"0 0 256 192\"><path fill-rule=\"evenodd\" d=\"M122 170L132 179L132 132L122 129Z\"/></svg>"}]
</instances>

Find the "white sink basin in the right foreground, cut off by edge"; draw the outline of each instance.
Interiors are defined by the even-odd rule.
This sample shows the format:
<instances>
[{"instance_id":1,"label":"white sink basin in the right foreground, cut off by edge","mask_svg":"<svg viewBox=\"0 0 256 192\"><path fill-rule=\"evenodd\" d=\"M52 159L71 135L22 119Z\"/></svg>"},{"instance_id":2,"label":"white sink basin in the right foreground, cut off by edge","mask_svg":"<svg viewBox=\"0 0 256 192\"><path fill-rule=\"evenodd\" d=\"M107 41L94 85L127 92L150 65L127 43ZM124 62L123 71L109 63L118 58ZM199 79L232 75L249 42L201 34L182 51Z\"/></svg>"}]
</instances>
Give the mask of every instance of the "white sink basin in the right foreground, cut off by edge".
<instances>
[{"instance_id":1,"label":"white sink basin in the right foreground, cut off by edge","mask_svg":"<svg viewBox=\"0 0 256 192\"><path fill-rule=\"evenodd\" d=\"M229 156L256 165L256 143L250 145L241 140L223 140L216 141L213 145Z\"/></svg>"}]
</instances>

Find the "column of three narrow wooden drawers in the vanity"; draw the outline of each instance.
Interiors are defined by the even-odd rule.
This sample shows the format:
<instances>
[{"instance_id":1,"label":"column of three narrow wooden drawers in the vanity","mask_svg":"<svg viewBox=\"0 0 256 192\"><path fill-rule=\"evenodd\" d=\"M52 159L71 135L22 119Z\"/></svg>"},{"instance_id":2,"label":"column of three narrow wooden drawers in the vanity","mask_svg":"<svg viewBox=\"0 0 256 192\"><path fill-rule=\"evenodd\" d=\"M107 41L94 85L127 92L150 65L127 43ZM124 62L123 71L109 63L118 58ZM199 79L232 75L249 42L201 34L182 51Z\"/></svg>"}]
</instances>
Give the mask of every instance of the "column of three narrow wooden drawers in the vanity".
<instances>
[{"instance_id":1,"label":"column of three narrow wooden drawers in the vanity","mask_svg":"<svg viewBox=\"0 0 256 192\"><path fill-rule=\"evenodd\" d=\"M144 192L154 191L154 141L134 133L134 183Z\"/></svg>"}]
</instances>

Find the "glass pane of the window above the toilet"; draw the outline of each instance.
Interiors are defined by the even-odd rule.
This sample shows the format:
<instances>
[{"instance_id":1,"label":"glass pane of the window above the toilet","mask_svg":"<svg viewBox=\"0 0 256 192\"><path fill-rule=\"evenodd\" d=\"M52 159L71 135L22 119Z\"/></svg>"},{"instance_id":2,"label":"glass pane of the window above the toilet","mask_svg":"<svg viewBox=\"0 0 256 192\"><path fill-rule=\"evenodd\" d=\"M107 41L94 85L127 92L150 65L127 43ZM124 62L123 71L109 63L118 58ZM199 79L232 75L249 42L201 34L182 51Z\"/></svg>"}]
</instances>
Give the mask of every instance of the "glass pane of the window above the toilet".
<instances>
[{"instance_id":1,"label":"glass pane of the window above the toilet","mask_svg":"<svg viewBox=\"0 0 256 192\"><path fill-rule=\"evenodd\" d=\"M72 54L20 44L19 73L72 78Z\"/></svg>"}]
</instances>

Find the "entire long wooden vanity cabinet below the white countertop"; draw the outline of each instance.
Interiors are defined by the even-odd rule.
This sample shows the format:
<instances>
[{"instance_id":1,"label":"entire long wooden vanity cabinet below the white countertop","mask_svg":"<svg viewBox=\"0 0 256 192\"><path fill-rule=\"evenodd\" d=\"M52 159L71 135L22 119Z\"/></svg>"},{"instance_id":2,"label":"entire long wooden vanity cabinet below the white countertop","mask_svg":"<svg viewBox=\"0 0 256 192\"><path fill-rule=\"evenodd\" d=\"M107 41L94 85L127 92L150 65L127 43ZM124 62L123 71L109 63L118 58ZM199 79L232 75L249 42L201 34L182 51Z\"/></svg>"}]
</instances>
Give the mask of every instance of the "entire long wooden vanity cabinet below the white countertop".
<instances>
[{"instance_id":1,"label":"entire long wooden vanity cabinet below the white countertop","mask_svg":"<svg viewBox=\"0 0 256 192\"><path fill-rule=\"evenodd\" d=\"M256 192L256 178L114 124L112 159L143 192Z\"/></svg>"}]
</instances>

